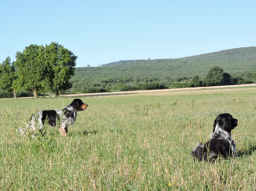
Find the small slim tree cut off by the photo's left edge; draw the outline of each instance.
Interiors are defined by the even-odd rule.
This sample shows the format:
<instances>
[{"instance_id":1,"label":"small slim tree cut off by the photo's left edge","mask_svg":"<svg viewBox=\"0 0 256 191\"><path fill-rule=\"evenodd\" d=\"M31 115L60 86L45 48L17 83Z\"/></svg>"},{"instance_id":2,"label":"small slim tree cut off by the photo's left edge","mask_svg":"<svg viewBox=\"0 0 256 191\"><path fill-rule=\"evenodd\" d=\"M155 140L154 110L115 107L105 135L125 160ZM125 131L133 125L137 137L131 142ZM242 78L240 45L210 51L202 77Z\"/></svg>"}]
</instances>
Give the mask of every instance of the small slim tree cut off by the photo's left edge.
<instances>
[{"instance_id":1,"label":"small slim tree cut off by the photo's left edge","mask_svg":"<svg viewBox=\"0 0 256 191\"><path fill-rule=\"evenodd\" d=\"M16 99L16 92L13 88L15 80L15 67L8 56L2 64L0 64L0 89L8 92L13 92Z\"/></svg>"}]
</instances>

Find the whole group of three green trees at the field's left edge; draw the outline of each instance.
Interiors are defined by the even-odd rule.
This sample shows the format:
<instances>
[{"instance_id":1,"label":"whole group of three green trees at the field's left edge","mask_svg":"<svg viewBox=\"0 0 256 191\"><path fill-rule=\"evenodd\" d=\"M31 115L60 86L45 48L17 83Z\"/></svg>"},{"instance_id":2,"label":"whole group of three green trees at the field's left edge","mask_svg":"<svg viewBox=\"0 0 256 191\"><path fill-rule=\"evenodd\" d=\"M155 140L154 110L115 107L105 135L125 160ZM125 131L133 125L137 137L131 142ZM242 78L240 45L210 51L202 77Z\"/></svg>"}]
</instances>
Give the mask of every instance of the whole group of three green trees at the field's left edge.
<instances>
[{"instance_id":1,"label":"whole group of three green trees at the field's left edge","mask_svg":"<svg viewBox=\"0 0 256 191\"><path fill-rule=\"evenodd\" d=\"M76 59L70 50L55 42L26 46L23 52L16 53L15 62L7 57L0 64L0 97L9 97L11 92L15 98L31 92L34 97L38 92L59 95L59 91L72 87L69 80L75 75Z\"/></svg>"}]
</instances>

